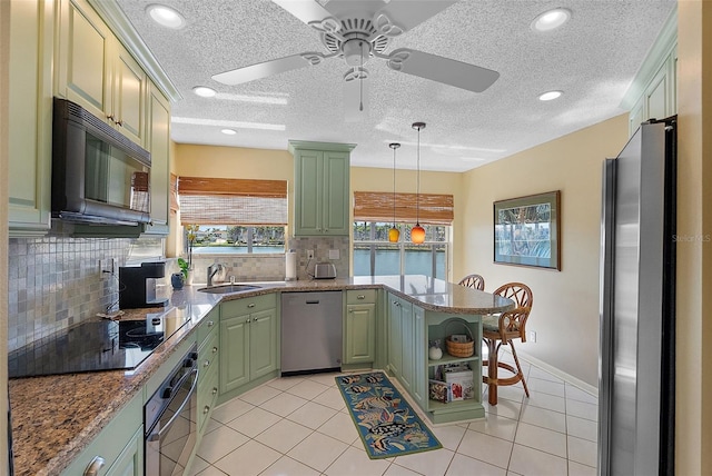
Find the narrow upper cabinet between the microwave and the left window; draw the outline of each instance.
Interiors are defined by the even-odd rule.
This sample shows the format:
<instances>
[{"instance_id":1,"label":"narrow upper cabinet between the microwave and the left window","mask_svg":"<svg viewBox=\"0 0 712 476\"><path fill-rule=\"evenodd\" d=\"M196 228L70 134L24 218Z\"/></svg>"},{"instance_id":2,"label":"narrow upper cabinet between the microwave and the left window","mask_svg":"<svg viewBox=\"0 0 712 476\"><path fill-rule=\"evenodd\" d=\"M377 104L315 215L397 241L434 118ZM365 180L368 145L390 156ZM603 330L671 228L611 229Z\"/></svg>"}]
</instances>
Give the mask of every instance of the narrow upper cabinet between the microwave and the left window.
<instances>
[{"instance_id":1,"label":"narrow upper cabinet between the microwave and the left window","mask_svg":"<svg viewBox=\"0 0 712 476\"><path fill-rule=\"evenodd\" d=\"M168 235L170 196L170 105L149 83L147 146L151 152L151 224L147 234Z\"/></svg>"}]
</instances>

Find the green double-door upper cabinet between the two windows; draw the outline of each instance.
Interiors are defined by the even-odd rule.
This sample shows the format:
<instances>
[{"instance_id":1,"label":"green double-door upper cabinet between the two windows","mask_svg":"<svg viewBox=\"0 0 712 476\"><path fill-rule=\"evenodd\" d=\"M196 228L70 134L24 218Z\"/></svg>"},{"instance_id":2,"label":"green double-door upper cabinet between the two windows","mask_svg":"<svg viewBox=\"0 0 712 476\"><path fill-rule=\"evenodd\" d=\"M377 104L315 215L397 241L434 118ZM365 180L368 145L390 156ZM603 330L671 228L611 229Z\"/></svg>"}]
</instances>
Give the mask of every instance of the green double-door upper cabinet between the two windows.
<instances>
[{"instance_id":1,"label":"green double-door upper cabinet between the two windows","mask_svg":"<svg viewBox=\"0 0 712 476\"><path fill-rule=\"evenodd\" d=\"M295 162L295 236L348 236L350 143L289 141Z\"/></svg>"}]
</instances>

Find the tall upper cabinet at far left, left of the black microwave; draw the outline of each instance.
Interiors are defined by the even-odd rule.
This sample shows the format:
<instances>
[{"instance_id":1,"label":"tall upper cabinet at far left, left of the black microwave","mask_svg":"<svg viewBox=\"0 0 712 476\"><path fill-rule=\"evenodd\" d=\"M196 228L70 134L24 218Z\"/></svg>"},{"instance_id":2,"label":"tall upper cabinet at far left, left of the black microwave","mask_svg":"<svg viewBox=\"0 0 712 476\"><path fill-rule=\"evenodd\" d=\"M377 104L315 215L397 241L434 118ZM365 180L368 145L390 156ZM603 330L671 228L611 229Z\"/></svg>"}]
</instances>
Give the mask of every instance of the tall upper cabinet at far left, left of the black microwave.
<instances>
[{"instance_id":1,"label":"tall upper cabinet at far left, left of the black microwave","mask_svg":"<svg viewBox=\"0 0 712 476\"><path fill-rule=\"evenodd\" d=\"M10 2L11 237L43 235L50 227L53 7L52 2L39 0Z\"/></svg>"}]
</instances>

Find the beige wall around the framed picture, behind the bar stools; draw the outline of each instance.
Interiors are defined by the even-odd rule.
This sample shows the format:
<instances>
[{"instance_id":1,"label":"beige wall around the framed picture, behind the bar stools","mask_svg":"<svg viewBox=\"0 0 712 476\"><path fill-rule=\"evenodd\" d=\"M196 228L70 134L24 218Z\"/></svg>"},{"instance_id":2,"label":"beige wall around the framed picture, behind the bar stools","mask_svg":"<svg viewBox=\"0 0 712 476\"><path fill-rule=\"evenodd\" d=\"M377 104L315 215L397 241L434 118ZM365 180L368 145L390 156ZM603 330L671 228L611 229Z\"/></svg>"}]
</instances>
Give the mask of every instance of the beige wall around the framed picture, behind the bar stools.
<instances>
[{"instance_id":1,"label":"beige wall around the framed picture, behind the bar stools","mask_svg":"<svg viewBox=\"0 0 712 476\"><path fill-rule=\"evenodd\" d=\"M477 272L492 291L508 281L532 288L527 330L517 350L597 387L601 171L627 140L619 116L466 173L465 221L456 240L458 275ZM493 264L493 201L561 190L561 271ZM462 268L458 266L462 264Z\"/></svg>"}]
</instances>

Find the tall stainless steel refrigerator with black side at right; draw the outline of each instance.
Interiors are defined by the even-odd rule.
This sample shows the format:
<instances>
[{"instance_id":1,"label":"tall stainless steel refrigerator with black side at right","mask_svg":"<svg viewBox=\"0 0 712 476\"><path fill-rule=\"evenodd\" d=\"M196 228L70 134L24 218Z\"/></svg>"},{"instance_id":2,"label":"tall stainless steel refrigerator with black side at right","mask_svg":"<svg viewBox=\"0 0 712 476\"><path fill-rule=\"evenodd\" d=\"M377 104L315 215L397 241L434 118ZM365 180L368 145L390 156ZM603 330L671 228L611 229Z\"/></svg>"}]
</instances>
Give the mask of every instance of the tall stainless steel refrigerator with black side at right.
<instances>
[{"instance_id":1,"label":"tall stainless steel refrigerator with black side at right","mask_svg":"<svg viewBox=\"0 0 712 476\"><path fill-rule=\"evenodd\" d=\"M674 474L676 119L603 167L599 474Z\"/></svg>"}]
</instances>

